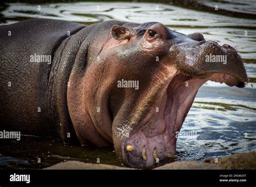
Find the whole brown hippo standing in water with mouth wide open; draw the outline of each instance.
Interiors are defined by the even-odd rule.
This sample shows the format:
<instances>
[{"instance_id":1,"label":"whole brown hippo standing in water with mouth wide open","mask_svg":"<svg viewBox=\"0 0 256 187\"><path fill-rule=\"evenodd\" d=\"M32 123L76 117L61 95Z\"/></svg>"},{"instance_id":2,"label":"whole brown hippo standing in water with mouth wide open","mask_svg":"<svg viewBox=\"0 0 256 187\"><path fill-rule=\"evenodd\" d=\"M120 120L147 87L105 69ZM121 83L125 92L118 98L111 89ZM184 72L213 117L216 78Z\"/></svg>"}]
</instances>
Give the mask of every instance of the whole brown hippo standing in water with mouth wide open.
<instances>
[{"instance_id":1,"label":"whole brown hippo standing in water with mouth wide open","mask_svg":"<svg viewBox=\"0 0 256 187\"><path fill-rule=\"evenodd\" d=\"M1 130L112 146L134 168L175 157L206 81L248 81L230 45L157 22L29 19L0 26L0 35Z\"/></svg>"}]
</instances>

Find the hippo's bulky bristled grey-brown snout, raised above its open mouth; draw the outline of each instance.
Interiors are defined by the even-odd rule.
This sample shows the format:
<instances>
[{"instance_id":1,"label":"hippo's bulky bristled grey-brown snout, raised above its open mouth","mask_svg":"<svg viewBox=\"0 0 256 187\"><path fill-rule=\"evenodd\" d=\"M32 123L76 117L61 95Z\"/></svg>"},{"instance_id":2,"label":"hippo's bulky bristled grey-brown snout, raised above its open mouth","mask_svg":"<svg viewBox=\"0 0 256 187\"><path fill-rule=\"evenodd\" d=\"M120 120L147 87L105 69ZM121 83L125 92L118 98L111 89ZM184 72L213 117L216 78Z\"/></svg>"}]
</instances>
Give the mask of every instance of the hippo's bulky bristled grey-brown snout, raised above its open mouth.
<instances>
[{"instance_id":1,"label":"hippo's bulky bristled grey-brown snout, raised above its open mouth","mask_svg":"<svg viewBox=\"0 0 256 187\"><path fill-rule=\"evenodd\" d=\"M176 66L188 76L206 78L229 86L245 87L248 82L241 56L230 45L215 41L199 41L177 45ZM210 78L211 77L211 78Z\"/></svg>"}]
</instances>

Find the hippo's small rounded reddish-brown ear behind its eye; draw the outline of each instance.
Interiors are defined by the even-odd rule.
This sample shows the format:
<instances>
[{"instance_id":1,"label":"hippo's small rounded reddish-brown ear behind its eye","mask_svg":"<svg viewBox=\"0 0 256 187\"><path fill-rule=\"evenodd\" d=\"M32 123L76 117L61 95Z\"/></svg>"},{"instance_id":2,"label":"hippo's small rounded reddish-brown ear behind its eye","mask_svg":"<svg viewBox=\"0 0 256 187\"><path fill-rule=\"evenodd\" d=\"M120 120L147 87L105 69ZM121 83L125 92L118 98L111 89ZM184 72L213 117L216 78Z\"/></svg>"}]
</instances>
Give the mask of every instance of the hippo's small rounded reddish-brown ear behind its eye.
<instances>
[{"instance_id":1,"label":"hippo's small rounded reddish-brown ear behind its eye","mask_svg":"<svg viewBox=\"0 0 256 187\"><path fill-rule=\"evenodd\" d=\"M111 34L114 39L119 41L130 40L131 38L130 28L121 25L114 25L111 29Z\"/></svg>"}]
</instances>

